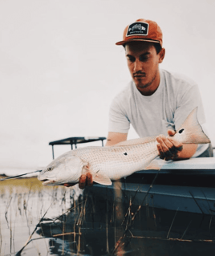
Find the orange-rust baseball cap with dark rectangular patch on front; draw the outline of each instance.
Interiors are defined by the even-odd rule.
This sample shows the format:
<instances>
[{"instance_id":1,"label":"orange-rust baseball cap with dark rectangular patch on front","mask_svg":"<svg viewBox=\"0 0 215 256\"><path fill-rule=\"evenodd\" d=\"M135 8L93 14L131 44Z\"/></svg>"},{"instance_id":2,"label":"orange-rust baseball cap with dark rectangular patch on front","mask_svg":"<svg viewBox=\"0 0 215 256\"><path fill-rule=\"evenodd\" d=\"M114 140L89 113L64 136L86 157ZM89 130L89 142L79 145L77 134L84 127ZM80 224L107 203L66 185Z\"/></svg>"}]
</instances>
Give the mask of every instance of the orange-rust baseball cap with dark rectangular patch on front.
<instances>
[{"instance_id":1,"label":"orange-rust baseball cap with dark rectangular patch on front","mask_svg":"<svg viewBox=\"0 0 215 256\"><path fill-rule=\"evenodd\" d=\"M123 41L117 42L116 45L124 45L124 43L133 41L160 43L162 47L163 35L160 26L152 20L139 18L136 22L126 26Z\"/></svg>"}]
</instances>

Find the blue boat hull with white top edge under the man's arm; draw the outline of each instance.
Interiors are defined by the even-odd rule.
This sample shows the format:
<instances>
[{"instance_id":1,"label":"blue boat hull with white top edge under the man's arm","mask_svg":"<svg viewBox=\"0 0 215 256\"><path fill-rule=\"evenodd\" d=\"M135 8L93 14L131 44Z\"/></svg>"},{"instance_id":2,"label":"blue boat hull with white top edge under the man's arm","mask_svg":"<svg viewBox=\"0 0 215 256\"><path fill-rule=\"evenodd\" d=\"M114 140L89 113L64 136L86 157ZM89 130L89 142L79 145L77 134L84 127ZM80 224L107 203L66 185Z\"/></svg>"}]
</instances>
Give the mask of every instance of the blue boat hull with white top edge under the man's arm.
<instances>
[{"instance_id":1,"label":"blue boat hull with white top edge under the man's arm","mask_svg":"<svg viewBox=\"0 0 215 256\"><path fill-rule=\"evenodd\" d=\"M215 213L215 157L158 162L162 165L159 171L142 170L107 188L95 184L89 189L105 198L115 197L116 189L120 189L123 197L118 199L128 205L132 201L133 205L158 209Z\"/></svg>"}]
</instances>

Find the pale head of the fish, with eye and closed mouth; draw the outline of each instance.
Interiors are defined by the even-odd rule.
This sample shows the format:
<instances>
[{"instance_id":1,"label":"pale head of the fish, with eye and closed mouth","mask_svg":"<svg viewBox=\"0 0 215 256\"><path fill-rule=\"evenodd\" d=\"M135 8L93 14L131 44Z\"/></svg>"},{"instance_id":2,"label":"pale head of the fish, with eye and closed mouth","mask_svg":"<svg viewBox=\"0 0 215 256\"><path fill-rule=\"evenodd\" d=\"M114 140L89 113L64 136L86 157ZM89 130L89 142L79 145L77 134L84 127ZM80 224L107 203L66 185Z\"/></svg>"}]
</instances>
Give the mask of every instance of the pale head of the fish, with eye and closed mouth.
<instances>
[{"instance_id":1,"label":"pale head of the fish, with eye and closed mouth","mask_svg":"<svg viewBox=\"0 0 215 256\"><path fill-rule=\"evenodd\" d=\"M39 173L43 185L76 184L83 169L83 161L78 156L59 156Z\"/></svg>"}]
</instances>

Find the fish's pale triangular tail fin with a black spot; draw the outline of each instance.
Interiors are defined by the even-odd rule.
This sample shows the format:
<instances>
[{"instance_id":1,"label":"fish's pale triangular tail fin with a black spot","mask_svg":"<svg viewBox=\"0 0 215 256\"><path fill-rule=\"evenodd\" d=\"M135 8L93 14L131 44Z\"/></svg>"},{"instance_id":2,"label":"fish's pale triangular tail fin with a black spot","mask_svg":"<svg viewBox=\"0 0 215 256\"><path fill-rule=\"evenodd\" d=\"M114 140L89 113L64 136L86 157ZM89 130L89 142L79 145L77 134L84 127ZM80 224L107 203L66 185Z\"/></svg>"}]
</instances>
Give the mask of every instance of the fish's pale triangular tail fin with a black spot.
<instances>
[{"instance_id":1,"label":"fish's pale triangular tail fin with a black spot","mask_svg":"<svg viewBox=\"0 0 215 256\"><path fill-rule=\"evenodd\" d=\"M189 114L181 128L176 131L174 138L184 144L206 144L210 142L209 137L205 135L197 120L197 108L194 108Z\"/></svg>"}]
</instances>

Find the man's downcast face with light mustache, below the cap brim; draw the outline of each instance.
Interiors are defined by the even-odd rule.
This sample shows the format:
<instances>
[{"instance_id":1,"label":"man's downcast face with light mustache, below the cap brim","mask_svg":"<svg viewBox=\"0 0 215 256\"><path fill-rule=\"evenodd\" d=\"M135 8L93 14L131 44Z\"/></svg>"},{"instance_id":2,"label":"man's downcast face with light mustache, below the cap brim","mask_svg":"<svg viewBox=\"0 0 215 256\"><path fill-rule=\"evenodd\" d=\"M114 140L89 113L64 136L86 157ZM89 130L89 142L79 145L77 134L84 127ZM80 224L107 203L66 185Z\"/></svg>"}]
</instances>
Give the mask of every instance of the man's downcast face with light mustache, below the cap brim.
<instances>
[{"instance_id":1,"label":"man's downcast face with light mustache, below the cap brim","mask_svg":"<svg viewBox=\"0 0 215 256\"><path fill-rule=\"evenodd\" d=\"M156 91L160 83L159 63L164 59L164 48L156 54L156 48L150 42L132 42L125 46L128 69L136 87L143 94ZM144 93L146 92L146 93Z\"/></svg>"}]
</instances>

